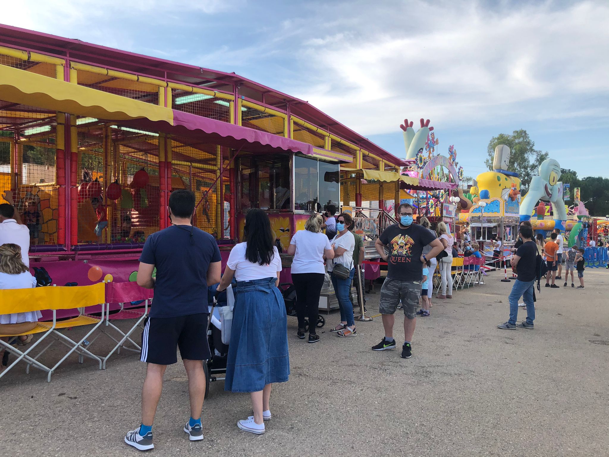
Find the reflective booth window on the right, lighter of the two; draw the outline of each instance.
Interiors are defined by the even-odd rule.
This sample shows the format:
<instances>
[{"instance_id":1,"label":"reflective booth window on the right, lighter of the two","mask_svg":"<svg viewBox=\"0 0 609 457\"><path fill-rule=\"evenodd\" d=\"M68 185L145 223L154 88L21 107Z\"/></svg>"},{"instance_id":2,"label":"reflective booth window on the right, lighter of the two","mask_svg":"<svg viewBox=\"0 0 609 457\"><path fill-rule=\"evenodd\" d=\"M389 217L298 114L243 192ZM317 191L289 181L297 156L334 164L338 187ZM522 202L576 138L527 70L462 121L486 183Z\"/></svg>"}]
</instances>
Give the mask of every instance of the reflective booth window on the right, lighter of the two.
<instances>
[{"instance_id":1,"label":"reflective booth window on the right, lighter of the two","mask_svg":"<svg viewBox=\"0 0 609 457\"><path fill-rule=\"evenodd\" d=\"M339 205L339 165L308 157L294 157L296 211L322 211L325 205Z\"/></svg>"}]
</instances>

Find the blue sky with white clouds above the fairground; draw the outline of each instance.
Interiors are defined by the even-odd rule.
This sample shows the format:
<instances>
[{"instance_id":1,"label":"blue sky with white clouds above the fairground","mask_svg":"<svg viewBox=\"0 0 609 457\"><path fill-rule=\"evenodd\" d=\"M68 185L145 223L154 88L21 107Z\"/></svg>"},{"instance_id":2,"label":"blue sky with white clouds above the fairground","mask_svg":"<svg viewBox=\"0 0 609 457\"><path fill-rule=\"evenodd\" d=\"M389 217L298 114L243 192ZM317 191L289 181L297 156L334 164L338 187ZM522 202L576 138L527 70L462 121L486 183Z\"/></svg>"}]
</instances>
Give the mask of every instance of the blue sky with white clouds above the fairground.
<instances>
[{"instance_id":1,"label":"blue sky with white clouds above the fairground","mask_svg":"<svg viewBox=\"0 0 609 457\"><path fill-rule=\"evenodd\" d=\"M431 119L465 175L525 129L609 177L609 2L21 0L0 22L205 68L304 99L398 157Z\"/></svg>"}]
</instances>

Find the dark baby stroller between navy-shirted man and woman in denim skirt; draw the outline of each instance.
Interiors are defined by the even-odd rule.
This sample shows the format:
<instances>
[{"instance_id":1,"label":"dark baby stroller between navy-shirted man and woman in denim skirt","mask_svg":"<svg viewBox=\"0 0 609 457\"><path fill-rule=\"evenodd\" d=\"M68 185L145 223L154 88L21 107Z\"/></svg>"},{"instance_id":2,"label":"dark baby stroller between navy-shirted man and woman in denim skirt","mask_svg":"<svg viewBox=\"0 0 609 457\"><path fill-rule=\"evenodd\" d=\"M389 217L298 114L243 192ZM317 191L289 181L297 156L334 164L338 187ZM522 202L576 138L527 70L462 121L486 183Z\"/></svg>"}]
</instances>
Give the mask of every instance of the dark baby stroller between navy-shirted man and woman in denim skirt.
<instances>
[{"instance_id":1,"label":"dark baby stroller between navy-shirted man and woman in denim skirt","mask_svg":"<svg viewBox=\"0 0 609 457\"><path fill-rule=\"evenodd\" d=\"M228 343L233 325L234 291L233 285L220 292L215 299L218 284L208 287L209 319L207 322L207 342L211 359L203 361L205 371L205 398L209 395L209 384L213 381L224 381L227 370ZM232 299L228 296L232 294Z\"/></svg>"}]
</instances>

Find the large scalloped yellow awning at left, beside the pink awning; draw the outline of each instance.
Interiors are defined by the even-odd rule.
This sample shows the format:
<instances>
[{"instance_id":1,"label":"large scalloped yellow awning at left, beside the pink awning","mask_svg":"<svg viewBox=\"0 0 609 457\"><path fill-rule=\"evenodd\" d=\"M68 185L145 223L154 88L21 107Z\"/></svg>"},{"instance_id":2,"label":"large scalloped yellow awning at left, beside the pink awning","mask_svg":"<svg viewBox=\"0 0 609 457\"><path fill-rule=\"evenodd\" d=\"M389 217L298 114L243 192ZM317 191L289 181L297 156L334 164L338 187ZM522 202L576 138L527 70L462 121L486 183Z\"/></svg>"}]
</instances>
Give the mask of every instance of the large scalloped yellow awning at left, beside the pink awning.
<instances>
[{"instance_id":1,"label":"large scalloped yellow awning at left, beside the pink awning","mask_svg":"<svg viewBox=\"0 0 609 457\"><path fill-rule=\"evenodd\" d=\"M173 111L89 87L0 65L0 99L112 121L147 118L174 124Z\"/></svg>"}]
</instances>

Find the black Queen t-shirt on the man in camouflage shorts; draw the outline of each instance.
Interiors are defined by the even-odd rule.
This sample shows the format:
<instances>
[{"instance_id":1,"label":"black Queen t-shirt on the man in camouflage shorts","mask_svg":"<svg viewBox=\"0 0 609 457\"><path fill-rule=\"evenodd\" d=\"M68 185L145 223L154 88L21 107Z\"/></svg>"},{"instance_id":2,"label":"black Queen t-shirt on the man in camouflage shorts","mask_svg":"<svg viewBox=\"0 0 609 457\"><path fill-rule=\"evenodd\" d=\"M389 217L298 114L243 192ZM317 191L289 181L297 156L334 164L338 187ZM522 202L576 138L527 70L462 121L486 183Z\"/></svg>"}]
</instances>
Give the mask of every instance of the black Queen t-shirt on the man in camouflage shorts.
<instances>
[{"instance_id":1,"label":"black Queen t-shirt on the man in camouflage shorts","mask_svg":"<svg viewBox=\"0 0 609 457\"><path fill-rule=\"evenodd\" d=\"M423 247L436 238L433 232L417 224L407 228L393 224L385 228L379 239L389 249L387 277L401 281L420 281L423 278Z\"/></svg>"}]
</instances>

